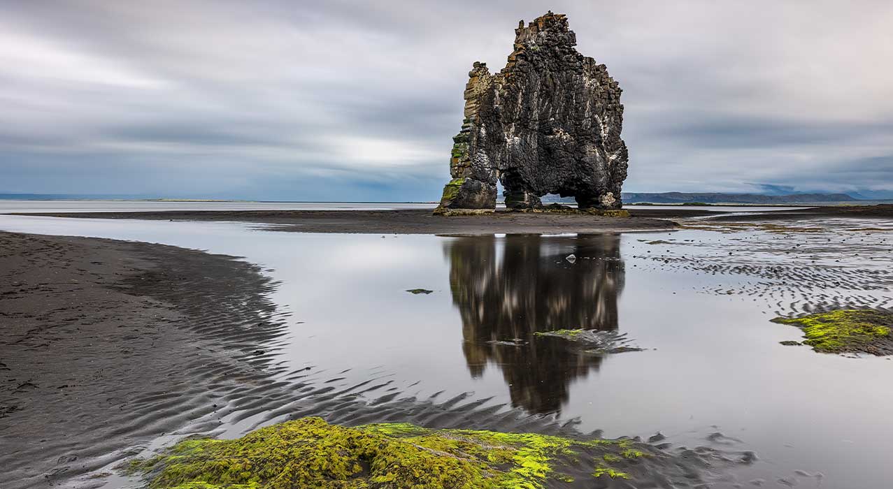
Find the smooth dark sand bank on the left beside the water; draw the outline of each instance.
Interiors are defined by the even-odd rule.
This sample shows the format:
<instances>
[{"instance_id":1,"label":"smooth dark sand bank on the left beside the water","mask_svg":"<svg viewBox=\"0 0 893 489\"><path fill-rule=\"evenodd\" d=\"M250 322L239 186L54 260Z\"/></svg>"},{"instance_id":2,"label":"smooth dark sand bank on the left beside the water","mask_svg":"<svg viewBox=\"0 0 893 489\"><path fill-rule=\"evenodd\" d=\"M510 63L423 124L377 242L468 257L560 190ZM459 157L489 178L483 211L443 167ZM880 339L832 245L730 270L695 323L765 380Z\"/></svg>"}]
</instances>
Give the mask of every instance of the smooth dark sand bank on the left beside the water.
<instances>
[{"instance_id":1,"label":"smooth dark sand bank on the left beside the water","mask_svg":"<svg viewBox=\"0 0 893 489\"><path fill-rule=\"evenodd\" d=\"M0 233L0 486L58 485L206 419L265 369L273 284L233 257Z\"/></svg>"}]
</instances>

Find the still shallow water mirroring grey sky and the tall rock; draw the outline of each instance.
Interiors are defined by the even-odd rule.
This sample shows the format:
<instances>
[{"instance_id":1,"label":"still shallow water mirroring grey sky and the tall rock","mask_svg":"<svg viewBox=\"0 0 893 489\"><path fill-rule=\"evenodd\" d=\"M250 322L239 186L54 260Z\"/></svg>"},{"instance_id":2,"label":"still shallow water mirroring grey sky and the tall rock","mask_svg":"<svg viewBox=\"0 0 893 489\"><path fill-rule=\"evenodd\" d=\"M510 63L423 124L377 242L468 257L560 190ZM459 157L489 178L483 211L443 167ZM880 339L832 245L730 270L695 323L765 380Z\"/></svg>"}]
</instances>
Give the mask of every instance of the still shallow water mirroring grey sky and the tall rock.
<instances>
[{"instance_id":1,"label":"still shallow water mirroring grey sky and the tall rock","mask_svg":"<svg viewBox=\"0 0 893 489\"><path fill-rule=\"evenodd\" d=\"M293 312L280 360L335 390L363 385L379 402L469 393L464 402L576 419L608 436L659 431L674 444L722 433L710 443L761 459L735 469L745 484L884 487L893 480L893 364L782 346L798 330L769 322L829 304L891 306L893 226L824 224L811 233L447 237L0 216L4 230L158 242L261 264L281 282L273 299ZM859 228L886 230L847 230ZM563 327L616 330L645 350L599 357L534 335ZM275 420L242 419L229 435Z\"/></svg>"}]
</instances>

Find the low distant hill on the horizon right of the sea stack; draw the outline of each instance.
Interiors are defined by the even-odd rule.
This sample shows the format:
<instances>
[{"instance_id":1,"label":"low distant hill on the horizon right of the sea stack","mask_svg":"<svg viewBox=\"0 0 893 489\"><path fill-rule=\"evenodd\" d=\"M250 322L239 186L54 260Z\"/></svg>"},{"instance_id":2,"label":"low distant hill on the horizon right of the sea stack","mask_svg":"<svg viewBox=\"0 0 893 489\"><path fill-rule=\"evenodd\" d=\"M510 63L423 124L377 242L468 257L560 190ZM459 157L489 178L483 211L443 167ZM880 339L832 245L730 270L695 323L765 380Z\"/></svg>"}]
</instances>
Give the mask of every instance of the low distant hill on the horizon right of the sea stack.
<instances>
[{"instance_id":1,"label":"low distant hill on the horizon right of the sea stack","mask_svg":"<svg viewBox=\"0 0 893 489\"><path fill-rule=\"evenodd\" d=\"M664 192L663 194L626 193L622 194L623 203L844 203L860 202L847 194L791 194L791 195L758 195L758 194L719 194L719 193L686 193Z\"/></svg>"}]
</instances>

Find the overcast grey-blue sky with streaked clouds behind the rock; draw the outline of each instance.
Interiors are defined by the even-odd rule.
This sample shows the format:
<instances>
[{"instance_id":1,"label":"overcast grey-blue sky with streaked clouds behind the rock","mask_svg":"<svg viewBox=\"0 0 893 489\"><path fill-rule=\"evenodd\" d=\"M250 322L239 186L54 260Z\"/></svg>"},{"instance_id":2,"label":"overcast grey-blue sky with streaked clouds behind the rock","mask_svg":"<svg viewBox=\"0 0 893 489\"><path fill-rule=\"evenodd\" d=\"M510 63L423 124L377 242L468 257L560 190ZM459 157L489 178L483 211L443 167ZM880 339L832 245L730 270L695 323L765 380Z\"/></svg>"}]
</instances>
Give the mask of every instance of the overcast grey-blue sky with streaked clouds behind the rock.
<instances>
[{"instance_id":1,"label":"overcast grey-blue sky with streaked clouds behind the rock","mask_svg":"<svg viewBox=\"0 0 893 489\"><path fill-rule=\"evenodd\" d=\"M568 15L629 192L893 197L893 3L0 0L0 193L435 201L472 62Z\"/></svg>"}]
</instances>

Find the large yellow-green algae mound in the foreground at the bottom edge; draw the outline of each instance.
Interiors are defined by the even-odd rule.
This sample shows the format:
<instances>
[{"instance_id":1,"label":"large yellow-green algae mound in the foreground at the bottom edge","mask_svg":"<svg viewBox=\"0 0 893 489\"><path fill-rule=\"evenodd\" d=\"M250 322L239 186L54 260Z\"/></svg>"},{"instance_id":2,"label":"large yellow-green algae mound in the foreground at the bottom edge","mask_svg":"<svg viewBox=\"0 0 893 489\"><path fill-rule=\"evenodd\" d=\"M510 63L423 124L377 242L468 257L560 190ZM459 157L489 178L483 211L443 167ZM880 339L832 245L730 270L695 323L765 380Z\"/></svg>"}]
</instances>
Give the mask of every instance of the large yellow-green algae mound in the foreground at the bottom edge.
<instances>
[{"instance_id":1,"label":"large yellow-green algae mound in the foreground at the bottom edge","mask_svg":"<svg viewBox=\"0 0 893 489\"><path fill-rule=\"evenodd\" d=\"M667 457L629 439L584 441L404 423L340 427L305 418L236 440L185 440L132 462L129 472L146 475L154 489L542 489L570 484L574 476L579 481L587 461L588 477L629 478L604 462L634 465L652 456Z\"/></svg>"}]
</instances>

